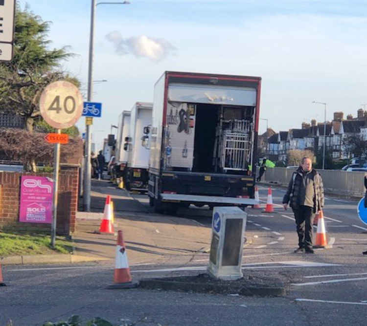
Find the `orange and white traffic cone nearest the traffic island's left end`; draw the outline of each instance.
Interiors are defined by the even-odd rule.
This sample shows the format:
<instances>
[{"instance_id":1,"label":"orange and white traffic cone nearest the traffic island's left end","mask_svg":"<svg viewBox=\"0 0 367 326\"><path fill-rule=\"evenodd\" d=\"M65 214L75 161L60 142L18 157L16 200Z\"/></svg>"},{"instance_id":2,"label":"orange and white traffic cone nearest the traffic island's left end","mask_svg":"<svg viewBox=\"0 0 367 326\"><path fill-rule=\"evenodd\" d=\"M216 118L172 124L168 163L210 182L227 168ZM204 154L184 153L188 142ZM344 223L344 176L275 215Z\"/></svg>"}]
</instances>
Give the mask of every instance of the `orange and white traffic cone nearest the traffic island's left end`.
<instances>
[{"instance_id":1,"label":"orange and white traffic cone nearest the traffic island's left end","mask_svg":"<svg viewBox=\"0 0 367 326\"><path fill-rule=\"evenodd\" d=\"M138 286L138 283L132 282L129 263L127 261L126 248L121 230L119 230L117 233L114 282L115 284L110 285L108 288L124 289Z\"/></svg>"}]
</instances>

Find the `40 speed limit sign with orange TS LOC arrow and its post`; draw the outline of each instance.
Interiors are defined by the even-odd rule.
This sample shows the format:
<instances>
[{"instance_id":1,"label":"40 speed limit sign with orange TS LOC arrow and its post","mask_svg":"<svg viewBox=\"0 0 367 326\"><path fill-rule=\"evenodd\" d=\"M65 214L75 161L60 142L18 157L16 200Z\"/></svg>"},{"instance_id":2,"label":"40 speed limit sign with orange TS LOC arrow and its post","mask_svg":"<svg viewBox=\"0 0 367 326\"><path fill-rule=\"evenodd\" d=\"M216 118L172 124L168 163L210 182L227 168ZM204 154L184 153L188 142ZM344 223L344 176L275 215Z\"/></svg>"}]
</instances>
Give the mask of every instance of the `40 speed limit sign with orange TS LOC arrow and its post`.
<instances>
[{"instance_id":1,"label":"40 speed limit sign with orange TS LOC arrow and its post","mask_svg":"<svg viewBox=\"0 0 367 326\"><path fill-rule=\"evenodd\" d=\"M51 224L51 246L55 247L57 196L59 188L60 143L68 142L68 137L61 134L61 129L73 126L82 115L83 98L79 89L67 82L57 81L48 84L41 94L40 112L45 121L57 133L49 133L45 139L55 143L53 163L53 217ZM67 136L67 135L66 135Z\"/></svg>"}]
</instances>

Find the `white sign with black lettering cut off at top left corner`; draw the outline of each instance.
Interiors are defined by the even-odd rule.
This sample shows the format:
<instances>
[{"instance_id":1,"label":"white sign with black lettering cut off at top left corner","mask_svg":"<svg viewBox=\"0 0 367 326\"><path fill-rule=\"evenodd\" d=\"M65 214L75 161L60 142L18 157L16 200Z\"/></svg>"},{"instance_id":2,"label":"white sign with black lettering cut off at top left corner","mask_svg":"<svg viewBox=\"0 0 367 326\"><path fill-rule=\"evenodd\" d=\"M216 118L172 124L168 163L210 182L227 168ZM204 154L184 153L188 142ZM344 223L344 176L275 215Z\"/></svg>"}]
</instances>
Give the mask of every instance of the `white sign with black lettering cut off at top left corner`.
<instances>
[{"instance_id":1,"label":"white sign with black lettering cut off at top left corner","mask_svg":"<svg viewBox=\"0 0 367 326\"><path fill-rule=\"evenodd\" d=\"M0 0L0 61L13 58L15 0Z\"/></svg>"}]
</instances>

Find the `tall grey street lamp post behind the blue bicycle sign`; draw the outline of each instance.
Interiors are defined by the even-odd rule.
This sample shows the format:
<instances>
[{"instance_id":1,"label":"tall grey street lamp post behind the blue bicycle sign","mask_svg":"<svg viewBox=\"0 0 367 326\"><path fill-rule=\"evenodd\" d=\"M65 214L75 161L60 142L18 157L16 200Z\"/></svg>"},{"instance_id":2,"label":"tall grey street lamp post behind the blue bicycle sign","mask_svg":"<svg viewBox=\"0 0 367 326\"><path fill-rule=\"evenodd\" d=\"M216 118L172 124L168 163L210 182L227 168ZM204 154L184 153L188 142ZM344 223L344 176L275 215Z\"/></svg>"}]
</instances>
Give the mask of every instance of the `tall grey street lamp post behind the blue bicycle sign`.
<instances>
[{"instance_id":1,"label":"tall grey street lamp post behind the blue bicycle sign","mask_svg":"<svg viewBox=\"0 0 367 326\"><path fill-rule=\"evenodd\" d=\"M88 64L88 91L87 101L92 101L92 71L93 71L93 38L94 38L94 12L95 7L99 4L129 4L129 1L123 2L98 2L91 0L91 31L89 35L89 64ZM86 119L87 122L87 119ZM86 142L85 142L85 170L84 170L84 191L83 191L83 208L84 211L91 211L91 125L86 123Z\"/></svg>"}]
</instances>

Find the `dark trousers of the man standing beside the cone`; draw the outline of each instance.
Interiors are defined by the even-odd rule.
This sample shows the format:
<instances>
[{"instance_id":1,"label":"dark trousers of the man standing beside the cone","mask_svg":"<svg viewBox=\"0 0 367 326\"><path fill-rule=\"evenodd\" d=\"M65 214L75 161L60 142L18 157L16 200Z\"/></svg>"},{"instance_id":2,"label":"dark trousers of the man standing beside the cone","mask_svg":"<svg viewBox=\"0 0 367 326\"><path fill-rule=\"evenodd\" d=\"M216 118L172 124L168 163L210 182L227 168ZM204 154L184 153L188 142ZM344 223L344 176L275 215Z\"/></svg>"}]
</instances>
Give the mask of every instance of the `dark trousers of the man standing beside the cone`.
<instances>
[{"instance_id":1,"label":"dark trousers of the man standing beside the cone","mask_svg":"<svg viewBox=\"0 0 367 326\"><path fill-rule=\"evenodd\" d=\"M301 248L312 249L314 213L313 207L299 206L293 210L296 218L298 246Z\"/></svg>"}]
</instances>

